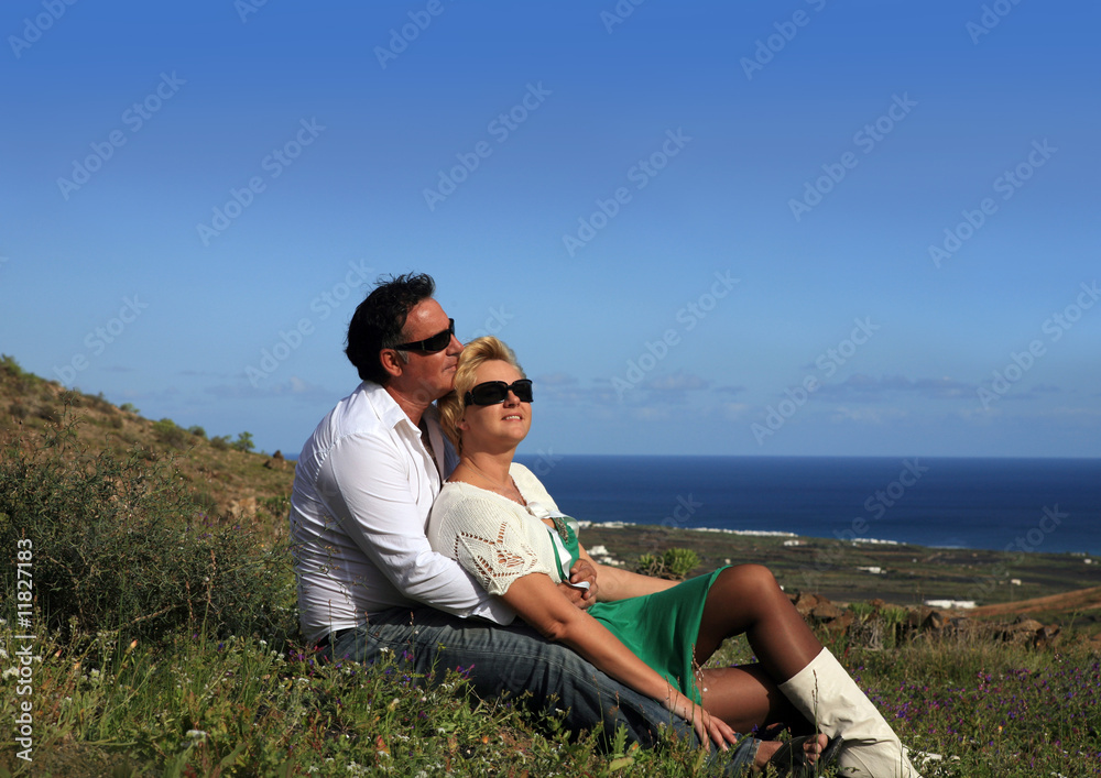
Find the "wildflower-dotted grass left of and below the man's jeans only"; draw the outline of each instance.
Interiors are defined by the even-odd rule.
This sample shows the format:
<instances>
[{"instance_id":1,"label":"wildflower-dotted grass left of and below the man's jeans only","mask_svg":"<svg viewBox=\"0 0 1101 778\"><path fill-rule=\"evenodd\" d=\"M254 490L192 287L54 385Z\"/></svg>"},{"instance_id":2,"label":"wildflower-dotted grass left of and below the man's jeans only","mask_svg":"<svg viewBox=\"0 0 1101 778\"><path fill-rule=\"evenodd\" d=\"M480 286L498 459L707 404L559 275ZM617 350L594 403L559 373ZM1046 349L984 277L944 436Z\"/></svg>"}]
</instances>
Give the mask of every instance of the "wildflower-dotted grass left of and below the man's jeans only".
<instances>
[{"instance_id":1,"label":"wildflower-dotted grass left of and below the man's jeans only","mask_svg":"<svg viewBox=\"0 0 1101 778\"><path fill-rule=\"evenodd\" d=\"M0 634L12 645L10 625ZM400 657L319 665L262 638L201 635L132 648L101 639L99 662L50 640L36 650L36 775L598 776L632 766L687 776L696 759L684 747L642 753L622 742L600 753L595 737L571 743L554 719L475 699L455 671L423 687ZM13 705L6 695L3 720ZM29 771L7 746L4 764Z\"/></svg>"}]
</instances>

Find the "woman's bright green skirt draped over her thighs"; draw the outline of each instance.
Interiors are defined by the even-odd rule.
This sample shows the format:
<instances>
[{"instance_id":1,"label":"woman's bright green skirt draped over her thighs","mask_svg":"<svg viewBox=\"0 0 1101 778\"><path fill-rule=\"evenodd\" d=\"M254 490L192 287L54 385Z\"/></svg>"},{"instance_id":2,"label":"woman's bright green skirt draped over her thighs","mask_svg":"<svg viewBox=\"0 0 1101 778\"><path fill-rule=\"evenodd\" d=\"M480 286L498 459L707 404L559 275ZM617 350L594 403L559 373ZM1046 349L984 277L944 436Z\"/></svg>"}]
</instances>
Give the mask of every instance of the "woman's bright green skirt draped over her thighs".
<instances>
[{"instance_id":1,"label":"woman's bright green skirt draped over her thighs","mask_svg":"<svg viewBox=\"0 0 1101 778\"><path fill-rule=\"evenodd\" d=\"M683 694L701 702L696 686L695 648L707 592L722 568L655 594L598 602L589 615Z\"/></svg>"}]
</instances>

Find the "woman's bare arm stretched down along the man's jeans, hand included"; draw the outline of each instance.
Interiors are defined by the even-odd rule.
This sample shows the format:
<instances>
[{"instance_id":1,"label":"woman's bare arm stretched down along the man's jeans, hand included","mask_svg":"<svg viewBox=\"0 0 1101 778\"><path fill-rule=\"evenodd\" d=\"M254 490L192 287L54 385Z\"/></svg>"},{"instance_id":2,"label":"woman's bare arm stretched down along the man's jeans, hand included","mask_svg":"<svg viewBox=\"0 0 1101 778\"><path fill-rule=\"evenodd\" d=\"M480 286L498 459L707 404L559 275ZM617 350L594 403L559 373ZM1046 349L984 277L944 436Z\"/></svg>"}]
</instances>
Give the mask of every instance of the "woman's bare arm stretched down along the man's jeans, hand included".
<instances>
[{"instance_id":1,"label":"woman's bare arm stretched down along the man's jeans, hand included","mask_svg":"<svg viewBox=\"0 0 1101 778\"><path fill-rule=\"evenodd\" d=\"M549 576L530 573L517 578L501 599L546 638L564 643L612 678L691 722L702 743L713 741L726 749L728 743L738 741L723 721L674 689L603 624L571 605Z\"/></svg>"}]
</instances>

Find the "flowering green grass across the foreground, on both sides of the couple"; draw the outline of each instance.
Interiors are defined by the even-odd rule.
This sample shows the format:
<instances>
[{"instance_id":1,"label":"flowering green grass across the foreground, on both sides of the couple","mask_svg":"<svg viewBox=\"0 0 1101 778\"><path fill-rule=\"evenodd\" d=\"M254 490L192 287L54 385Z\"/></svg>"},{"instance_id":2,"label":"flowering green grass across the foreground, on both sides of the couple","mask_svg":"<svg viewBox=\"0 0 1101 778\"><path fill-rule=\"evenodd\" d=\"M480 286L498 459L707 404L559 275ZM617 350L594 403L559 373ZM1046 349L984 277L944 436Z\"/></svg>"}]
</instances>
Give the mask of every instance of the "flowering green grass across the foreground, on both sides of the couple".
<instances>
[{"instance_id":1,"label":"flowering green grass across the foreground, on both sides of the couple","mask_svg":"<svg viewBox=\"0 0 1101 778\"><path fill-rule=\"evenodd\" d=\"M9 653L14 634L0 625ZM321 665L257 636L185 632L132 643L34 644L34 775L698 775L683 746L601 753L553 719L477 700L457 672L426 688L401 657ZM944 757L926 776L1101 775L1101 671L1084 649L833 648L905 743ZM717 657L746 659L739 640ZM0 720L12 721L20 698L4 686ZM0 747L0 775L31 772L14 753Z\"/></svg>"}]
</instances>

